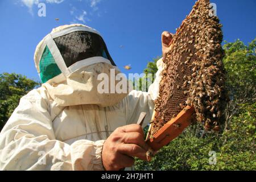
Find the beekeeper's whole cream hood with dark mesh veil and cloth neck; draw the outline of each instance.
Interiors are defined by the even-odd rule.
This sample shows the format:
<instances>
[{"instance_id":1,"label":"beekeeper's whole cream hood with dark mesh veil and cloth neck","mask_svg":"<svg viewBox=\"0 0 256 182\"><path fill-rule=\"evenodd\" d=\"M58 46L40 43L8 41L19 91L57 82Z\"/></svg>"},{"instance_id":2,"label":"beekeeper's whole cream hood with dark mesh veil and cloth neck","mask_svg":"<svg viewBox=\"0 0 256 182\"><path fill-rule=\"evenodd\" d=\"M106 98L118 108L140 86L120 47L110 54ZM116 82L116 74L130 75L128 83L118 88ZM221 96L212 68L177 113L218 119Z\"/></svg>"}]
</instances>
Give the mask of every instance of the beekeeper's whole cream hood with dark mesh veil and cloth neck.
<instances>
[{"instance_id":1,"label":"beekeeper's whole cream hood with dark mesh veil and cloth neck","mask_svg":"<svg viewBox=\"0 0 256 182\"><path fill-rule=\"evenodd\" d=\"M54 28L36 47L34 60L42 86L60 106L111 106L129 92L126 89L127 92L117 93L113 88L112 92L106 92L113 87L110 79L118 75L119 69L99 32L88 26L72 24ZM105 76L102 80L98 80L100 73ZM107 84L100 86L104 80Z\"/></svg>"}]
</instances>

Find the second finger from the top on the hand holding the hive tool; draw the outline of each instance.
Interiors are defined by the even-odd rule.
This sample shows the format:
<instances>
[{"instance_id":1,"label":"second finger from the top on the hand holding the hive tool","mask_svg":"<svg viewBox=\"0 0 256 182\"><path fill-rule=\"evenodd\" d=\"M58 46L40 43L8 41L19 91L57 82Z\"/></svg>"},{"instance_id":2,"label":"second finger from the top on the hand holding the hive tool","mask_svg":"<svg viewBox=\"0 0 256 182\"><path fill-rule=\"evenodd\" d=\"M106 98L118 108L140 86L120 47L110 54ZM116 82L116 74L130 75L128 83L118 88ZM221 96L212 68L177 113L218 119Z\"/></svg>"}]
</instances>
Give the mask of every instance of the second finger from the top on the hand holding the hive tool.
<instances>
[{"instance_id":1,"label":"second finger from the top on the hand holding the hive tool","mask_svg":"<svg viewBox=\"0 0 256 182\"><path fill-rule=\"evenodd\" d=\"M142 147L144 150L148 150L148 146L146 142L144 141L144 137L141 133L138 132L130 132L130 133L125 133L123 135L123 143L129 144L137 144L138 146Z\"/></svg>"}]
</instances>

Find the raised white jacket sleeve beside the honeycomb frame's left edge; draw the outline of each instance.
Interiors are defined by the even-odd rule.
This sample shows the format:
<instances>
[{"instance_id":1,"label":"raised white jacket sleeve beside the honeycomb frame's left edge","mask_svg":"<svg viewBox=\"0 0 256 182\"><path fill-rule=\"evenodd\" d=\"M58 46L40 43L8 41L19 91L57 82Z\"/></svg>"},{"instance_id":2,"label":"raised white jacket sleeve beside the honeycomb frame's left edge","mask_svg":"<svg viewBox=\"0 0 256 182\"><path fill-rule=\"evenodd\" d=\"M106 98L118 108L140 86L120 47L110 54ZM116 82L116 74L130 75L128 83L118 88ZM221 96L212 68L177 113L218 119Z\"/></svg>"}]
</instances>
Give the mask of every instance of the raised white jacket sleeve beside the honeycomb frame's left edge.
<instances>
[{"instance_id":1,"label":"raised white jacket sleeve beside the honeycomb frame's left edge","mask_svg":"<svg viewBox=\"0 0 256 182\"><path fill-rule=\"evenodd\" d=\"M156 72L155 81L149 86L148 92L141 92L133 90L126 97L126 121L127 125L137 123L141 112L146 112L146 118L144 119L143 127L147 126L150 122L152 113L154 111L154 100L159 94L159 84L162 79L162 72L164 69L163 59L159 59L156 63L158 72Z\"/></svg>"}]
</instances>

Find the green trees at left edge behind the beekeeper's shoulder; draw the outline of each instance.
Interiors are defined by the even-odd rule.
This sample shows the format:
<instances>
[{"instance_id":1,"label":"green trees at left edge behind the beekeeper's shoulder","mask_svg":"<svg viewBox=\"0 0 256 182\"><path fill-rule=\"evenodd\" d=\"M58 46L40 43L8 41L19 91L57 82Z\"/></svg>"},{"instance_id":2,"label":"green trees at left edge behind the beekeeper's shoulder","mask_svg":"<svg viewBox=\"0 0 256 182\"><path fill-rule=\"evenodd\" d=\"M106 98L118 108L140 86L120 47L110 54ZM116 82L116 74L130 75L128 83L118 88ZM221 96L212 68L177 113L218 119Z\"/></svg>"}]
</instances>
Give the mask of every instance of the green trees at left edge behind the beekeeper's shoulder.
<instances>
[{"instance_id":1,"label":"green trees at left edge behind the beekeeper's shoulder","mask_svg":"<svg viewBox=\"0 0 256 182\"><path fill-rule=\"evenodd\" d=\"M18 106L22 96L39 83L15 73L0 74L0 130Z\"/></svg>"}]
</instances>

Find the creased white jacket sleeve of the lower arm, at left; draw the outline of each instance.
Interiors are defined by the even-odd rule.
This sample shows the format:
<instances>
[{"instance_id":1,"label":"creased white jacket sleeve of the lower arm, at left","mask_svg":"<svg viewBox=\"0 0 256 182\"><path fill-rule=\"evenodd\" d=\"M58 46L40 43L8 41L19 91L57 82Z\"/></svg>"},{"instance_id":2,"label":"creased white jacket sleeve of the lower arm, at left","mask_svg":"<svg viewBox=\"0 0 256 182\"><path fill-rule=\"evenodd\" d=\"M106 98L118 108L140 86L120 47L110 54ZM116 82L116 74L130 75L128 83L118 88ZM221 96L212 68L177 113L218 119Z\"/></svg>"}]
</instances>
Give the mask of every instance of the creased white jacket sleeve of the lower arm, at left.
<instances>
[{"instance_id":1,"label":"creased white jacket sleeve of the lower arm, at left","mask_svg":"<svg viewBox=\"0 0 256 182\"><path fill-rule=\"evenodd\" d=\"M56 140L44 90L20 100L0 134L1 170L102 170L104 140ZM29 96L29 97L28 97Z\"/></svg>"}]
</instances>

